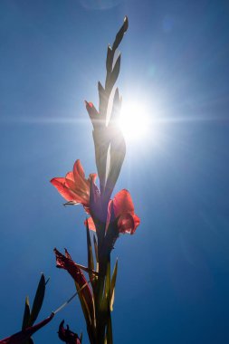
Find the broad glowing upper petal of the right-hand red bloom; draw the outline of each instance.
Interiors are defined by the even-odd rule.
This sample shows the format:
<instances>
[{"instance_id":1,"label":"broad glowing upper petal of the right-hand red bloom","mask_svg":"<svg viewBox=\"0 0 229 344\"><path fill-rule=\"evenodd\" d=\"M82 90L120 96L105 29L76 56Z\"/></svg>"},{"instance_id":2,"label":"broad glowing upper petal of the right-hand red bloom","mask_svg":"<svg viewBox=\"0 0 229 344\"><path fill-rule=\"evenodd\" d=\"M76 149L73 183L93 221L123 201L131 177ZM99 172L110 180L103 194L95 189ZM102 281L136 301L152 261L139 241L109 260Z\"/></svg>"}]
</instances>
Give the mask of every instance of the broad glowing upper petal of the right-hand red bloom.
<instances>
[{"instance_id":1,"label":"broad glowing upper petal of the right-hand red bloom","mask_svg":"<svg viewBox=\"0 0 229 344\"><path fill-rule=\"evenodd\" d=\"M134 205L128 190L121 190L113 199L115 216L123 214L134 215Z\"/></svg>"}]
</instances>

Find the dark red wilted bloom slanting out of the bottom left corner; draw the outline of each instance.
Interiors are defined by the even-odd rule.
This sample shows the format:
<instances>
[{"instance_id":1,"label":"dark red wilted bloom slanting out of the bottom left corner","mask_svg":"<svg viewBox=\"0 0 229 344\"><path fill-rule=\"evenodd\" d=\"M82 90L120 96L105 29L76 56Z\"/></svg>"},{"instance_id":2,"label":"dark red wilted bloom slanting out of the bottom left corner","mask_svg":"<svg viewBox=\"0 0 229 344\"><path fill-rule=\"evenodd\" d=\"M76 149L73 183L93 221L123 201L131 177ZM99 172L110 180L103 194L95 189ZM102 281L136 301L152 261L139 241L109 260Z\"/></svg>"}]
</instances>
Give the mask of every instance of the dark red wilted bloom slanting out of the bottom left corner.
<instances>
[{"instance_id":1,"label":"dark red wilted bloom slanting out of the bottom left corner","mask_svg":"<svg viewBox=\"0 0 229 344\"><path fill-rule=\"evenodd\" d=\"M41 328L43 328L43 326L50 322L53 316L54 313L52 313L49 318L39 322L38 324L25 330L21 330L20 332L15 333L11 337L7 337L5 339L0 340L0 344L24 344L27 340L31 338L34 332L40 330Z\"/></svg>"}]
</instances>

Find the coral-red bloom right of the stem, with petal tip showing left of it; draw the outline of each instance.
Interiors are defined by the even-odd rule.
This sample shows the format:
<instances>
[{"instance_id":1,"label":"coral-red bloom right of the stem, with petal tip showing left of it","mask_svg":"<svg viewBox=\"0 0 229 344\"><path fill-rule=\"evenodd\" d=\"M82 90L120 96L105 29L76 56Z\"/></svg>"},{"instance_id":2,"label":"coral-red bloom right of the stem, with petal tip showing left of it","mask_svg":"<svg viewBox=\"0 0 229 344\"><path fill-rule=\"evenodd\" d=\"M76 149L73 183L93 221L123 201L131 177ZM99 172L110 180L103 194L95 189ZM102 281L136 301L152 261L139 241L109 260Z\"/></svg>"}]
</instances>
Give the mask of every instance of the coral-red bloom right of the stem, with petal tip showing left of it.
<instances>
[{"instance_id":1,"label":"coral-red bloom right of the stem, with petal tip showing left of it","mask_svg":"<svg viewBox=\"0 0 229 344\"><path fill-rule=\"evenodd\" d=\"M112 207L114 218L110 215ZM107 226L110 221L114 221L115 219L118 220L118 230L122 234L134 234L140 223L138 215L134 213L133 201L128 190L123 189L119 191L113 200L110 201ZM95 231L95 225L91 217L88 219L88 224L89 228Z\"/></svg>"}]
</instances>

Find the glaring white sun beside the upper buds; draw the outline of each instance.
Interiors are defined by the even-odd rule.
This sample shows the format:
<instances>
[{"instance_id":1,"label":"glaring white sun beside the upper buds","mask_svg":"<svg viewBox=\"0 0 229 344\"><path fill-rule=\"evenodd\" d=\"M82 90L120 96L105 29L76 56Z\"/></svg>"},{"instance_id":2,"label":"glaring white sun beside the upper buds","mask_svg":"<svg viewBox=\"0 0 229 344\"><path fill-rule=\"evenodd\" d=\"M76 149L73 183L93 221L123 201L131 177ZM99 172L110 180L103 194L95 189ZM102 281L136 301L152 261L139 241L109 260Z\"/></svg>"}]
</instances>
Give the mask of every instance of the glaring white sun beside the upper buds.
<instances>
[{"instance_id":1,"label":"glaring white sun beside the upper buds","mask_svg":"<svg viewBox=\"0 0 229 344\"><path fill-rule=\"evenodd\" d=\"M150 130L150 116L148 108L136 101L123 102L119 126L128 141L146 138Z\"/></svg>"}]
</instances>

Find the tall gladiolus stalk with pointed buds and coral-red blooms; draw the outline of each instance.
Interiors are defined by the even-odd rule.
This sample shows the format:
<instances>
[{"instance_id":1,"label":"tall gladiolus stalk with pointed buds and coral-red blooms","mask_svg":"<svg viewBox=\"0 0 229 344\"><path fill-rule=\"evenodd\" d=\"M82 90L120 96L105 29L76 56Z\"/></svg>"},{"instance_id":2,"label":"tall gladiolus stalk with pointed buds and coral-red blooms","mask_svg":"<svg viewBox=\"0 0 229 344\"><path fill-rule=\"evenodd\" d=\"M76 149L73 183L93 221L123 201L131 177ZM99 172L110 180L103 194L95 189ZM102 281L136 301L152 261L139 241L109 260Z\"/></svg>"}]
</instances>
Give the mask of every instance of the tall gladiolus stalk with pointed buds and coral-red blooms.
<instances>
[{"instance_id":1,"label":"tall gladiolus stalk with pointed buds and coral-red blooms","mask_svg":"<svg viewBox=\"0 0 229 344\"><path fill-rule=\"evenodd\" d=\"M93 127L92 137L100 187L95 183L96 174L92 173L88 178L85 177L80 160L75 162L73 170L65 177L55 177L51 180L52 185L67 200L66 205L81 204L90 215L84 223L88 266L74 263L67 250L65 256L57 249L54 249L54 253L57 267L67 270L75 282L91 344L113 343L111 311L118 262L115 263L111 274L110 253L119 234L134 234L139 225L139 218L135 214L128 190L119 191L111 199L126 154L125 140L119 129L121 97L118 88L111 99L120 69L120 54L116 61L114 57L128 26L128 18L125 17L114 43L108 46L105 85L103 87L100 81L98 83L99 110L90 101L85 100ZM109 113L110 101L112 106ZM91 231L94 231L93 247ZM87 283L84 272L88 273L91 285ZM64 330L61 333L63 332Z\"/></svg>"}]
</instances>

